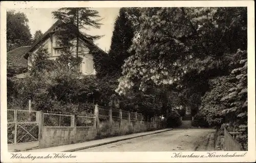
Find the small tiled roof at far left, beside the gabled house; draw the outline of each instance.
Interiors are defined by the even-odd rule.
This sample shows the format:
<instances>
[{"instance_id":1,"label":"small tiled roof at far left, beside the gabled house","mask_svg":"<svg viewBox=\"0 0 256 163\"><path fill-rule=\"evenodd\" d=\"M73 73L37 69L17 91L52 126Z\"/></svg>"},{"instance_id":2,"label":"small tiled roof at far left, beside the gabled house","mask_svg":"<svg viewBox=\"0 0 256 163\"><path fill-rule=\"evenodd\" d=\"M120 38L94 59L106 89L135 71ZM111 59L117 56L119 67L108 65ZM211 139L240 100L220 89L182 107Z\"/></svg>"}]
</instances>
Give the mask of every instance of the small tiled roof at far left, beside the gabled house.
<instances>
[{"instance_id":1,"label":"small tiled roof at far left, beside the gabled house","mask_svg":"<svg viewBox=\"0 0 256 163\"><path fill-rule=\"evenodd\" d=\"M23 57L25 51L27 51L30 46L21 46L7 52L7 62L11 64L12 68L27 68L28 60Z\"/></svg>"}]
</instances>

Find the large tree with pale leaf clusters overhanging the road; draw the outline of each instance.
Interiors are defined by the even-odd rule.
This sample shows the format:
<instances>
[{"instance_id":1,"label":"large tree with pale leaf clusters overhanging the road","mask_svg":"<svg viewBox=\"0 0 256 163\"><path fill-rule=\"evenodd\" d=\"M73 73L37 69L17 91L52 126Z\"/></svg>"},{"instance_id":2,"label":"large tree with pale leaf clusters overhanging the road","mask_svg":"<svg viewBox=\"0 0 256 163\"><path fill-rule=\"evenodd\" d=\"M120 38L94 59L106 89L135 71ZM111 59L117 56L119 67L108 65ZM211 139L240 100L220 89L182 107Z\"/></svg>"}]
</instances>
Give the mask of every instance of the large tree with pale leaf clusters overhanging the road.
<instances>
[{"instance_id":1,"label":"large tree with pale leaf clusters overhanging the road","mask_svg":"<svg viewBox=\"0 0 256 163\"><path fill-rule=\"evenodd\" d=\"M179 85L191 70L201 73L223 66L224 53L247 47L246 18L246 8L141 9L131 47L135 55L125 61L116 91L125 93L133 78L139 78L145 90L149 81Z\"/></svg>"}]
</instances>

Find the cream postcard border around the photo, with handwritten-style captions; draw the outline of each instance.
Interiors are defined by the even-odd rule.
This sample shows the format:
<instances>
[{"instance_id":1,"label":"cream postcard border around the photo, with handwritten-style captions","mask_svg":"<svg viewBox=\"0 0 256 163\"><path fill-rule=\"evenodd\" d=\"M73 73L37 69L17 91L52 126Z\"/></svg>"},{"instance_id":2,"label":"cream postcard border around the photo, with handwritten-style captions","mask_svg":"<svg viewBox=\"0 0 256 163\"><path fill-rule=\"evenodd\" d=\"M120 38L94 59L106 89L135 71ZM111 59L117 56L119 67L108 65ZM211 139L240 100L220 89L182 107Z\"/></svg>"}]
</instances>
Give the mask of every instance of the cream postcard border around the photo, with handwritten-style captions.
<instances>
[{"instance_id":1,"label":"cream postcard border around the photo, with handwritten-style captions","mask_svg":"<svg viewBox=\"0 0 256 163\"><path fill-rule=\"evenodd\" d=\"M178 152L71 152L76 158L47 158L55 152L18 152L24 156L43 156L43 159L11 159L7 152L7 90L6 90L6 9L57 7L247 7L248 10L248 152L219 152L245 154L244 157L175 158ZM96 1L96 2L1 2L1 161L3 162L250 162L255 161L255 49L253 1ZM208 155L207 152L182 152L182 155ZM211 152L212 153L212 152Z\"/></svg>"}]
</instances>

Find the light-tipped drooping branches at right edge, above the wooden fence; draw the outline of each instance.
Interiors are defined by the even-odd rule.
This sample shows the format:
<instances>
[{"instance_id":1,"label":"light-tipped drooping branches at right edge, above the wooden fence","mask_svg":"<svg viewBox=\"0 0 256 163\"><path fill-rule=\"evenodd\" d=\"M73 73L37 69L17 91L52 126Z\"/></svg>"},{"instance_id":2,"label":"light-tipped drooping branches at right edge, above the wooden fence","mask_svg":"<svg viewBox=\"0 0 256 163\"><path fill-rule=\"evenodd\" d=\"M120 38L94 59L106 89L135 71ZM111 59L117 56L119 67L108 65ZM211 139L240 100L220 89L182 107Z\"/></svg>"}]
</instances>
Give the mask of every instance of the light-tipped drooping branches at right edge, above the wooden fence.
<instances>
[{"instance_id":1,"label":"light-tipped drooping branches at right edge, above the wooden fence","mask_svg":"<svg viewBox=\"0 0 256 163\"><path fill-rule=\"evenodd\" d=\"M232 88L228 90L228 94L221 99L221 102L226 104L224 114L236 115L233 125L238 127L238 131L242 135L237 137L247 150L248 141L248 95L247 95L247 51L238 50L232 55L233 61L230 66L233 68L230 76L234 78Z\"/></svg>"}]
</instances>

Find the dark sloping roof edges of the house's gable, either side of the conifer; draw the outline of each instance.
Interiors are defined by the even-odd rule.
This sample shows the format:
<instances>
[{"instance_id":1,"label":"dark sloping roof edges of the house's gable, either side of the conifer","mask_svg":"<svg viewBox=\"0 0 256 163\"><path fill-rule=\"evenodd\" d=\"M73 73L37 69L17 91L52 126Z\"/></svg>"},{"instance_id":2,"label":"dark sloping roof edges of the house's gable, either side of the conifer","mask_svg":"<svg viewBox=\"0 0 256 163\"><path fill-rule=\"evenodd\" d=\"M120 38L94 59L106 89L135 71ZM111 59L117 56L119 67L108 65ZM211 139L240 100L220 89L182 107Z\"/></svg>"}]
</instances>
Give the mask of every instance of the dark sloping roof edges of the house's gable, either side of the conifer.
<instances>
[{"instance_id":1,"label":"dark sloping roof edges of the house's gable, either side of the conifer","mask_svg":"<svg viewBox=\"0 0 256 163\"><path fill-rule=\"evenodd\" d=\"M44 33L44 35L42 35L33 45L30 46L30 48L28 48L24 53L23 56L25 59L28 59L29 56L29 52L31 52L32 50L34 50L36 48L36 45L39 44L42 40L44 40L45 38L48 38L48 34L54 30L54 28L60 24L60 23L65 23L61 20L57 20L51 27L49 30L47 30L47 32ZM81 32L79 32L79 37L81 39L83 39L86 43L90 44L91 47L96 48L98 50L100 50L103 53L106 53L105 51L103 51L101 48L99 48L96 44L94 44L91 40L89 40L86 36L82 35Z\"/></svg>"}]
</instances>

